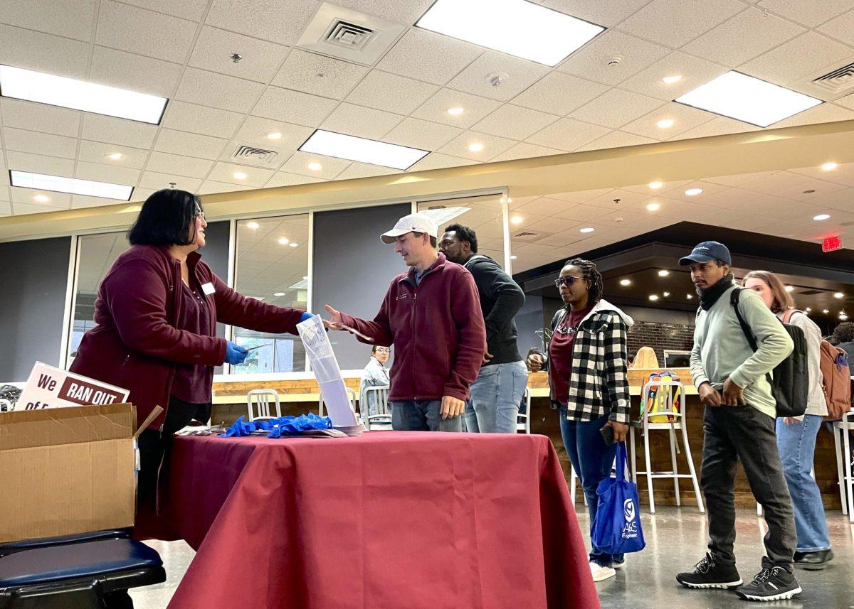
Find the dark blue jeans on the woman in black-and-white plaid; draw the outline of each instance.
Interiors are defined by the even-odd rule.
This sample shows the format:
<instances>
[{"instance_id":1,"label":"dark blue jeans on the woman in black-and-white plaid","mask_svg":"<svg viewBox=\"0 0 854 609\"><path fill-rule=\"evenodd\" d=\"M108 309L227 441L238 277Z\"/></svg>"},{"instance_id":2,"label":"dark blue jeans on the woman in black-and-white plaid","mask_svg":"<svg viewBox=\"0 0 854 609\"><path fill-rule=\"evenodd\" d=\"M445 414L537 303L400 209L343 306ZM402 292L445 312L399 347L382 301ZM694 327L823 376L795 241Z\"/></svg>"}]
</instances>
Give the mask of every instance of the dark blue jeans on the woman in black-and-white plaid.
<instances>
[{"instance_id":1,"label":"dark blue jeans on the woman in black-and-white plaid","mask_svg":"<svg viewBox=\"0 0 854 609\"><path fill-rule=\"evenodd\" d=\"M608 422L603 416L593 421L567 421L566 409L560 408L560 435L564 437L566 454L570 456L572 467L582 482L584 496L588 500L590 514L590 532L593 532L596 508L599 496L596 488L599 483L611 475L611 465L617 454L617 444L605 444L600 429ZM614 562L623 562L623 554L608 554L593 546L590 551L590 562L600 566L611 566Z\"/></svg>"}]
</instances>

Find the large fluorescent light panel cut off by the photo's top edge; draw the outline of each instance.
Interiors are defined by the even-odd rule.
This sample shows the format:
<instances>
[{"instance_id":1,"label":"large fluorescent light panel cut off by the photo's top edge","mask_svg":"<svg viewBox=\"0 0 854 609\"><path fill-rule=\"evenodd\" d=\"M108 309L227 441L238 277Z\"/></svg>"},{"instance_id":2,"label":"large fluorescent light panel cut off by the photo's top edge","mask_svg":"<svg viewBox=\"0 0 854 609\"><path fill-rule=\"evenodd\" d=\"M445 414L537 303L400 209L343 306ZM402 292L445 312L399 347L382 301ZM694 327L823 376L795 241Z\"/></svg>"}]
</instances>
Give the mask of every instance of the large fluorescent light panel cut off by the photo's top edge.
<instances>
[{"instance_id":1,"label":"large fluorescent light panel cut off by the photo's top edge","mask_svg":"<svg viewBox=\"0 0 854 609\"><path fill-rule=\"evenodd\" d=\"M605 30L526 0L436 0L415 25L552 67Z\"/></svg>"}]
</instances>

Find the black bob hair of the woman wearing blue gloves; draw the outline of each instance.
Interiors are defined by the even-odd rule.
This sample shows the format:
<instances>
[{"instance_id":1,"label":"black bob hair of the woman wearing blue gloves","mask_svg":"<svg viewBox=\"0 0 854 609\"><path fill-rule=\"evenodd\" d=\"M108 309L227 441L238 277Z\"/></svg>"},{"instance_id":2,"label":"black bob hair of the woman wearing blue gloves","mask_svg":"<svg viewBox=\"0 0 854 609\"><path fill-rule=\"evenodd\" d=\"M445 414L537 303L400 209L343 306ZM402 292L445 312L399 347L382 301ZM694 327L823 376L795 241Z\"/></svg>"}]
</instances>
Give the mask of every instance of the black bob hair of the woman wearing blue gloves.
<instances>
[{"instance_id":1,"label":"black bob hair of the woman wearing blue gloves","mask_svg":"<svg viewBox=\"0 0 854 609\"><path fill-rule=\"evenodd\" d=\"M158 190L143 203L127 241L132 246L189 246L196 241L196 213L201 211L202 201L195 194Z\"/></svg>"}]
</instances>

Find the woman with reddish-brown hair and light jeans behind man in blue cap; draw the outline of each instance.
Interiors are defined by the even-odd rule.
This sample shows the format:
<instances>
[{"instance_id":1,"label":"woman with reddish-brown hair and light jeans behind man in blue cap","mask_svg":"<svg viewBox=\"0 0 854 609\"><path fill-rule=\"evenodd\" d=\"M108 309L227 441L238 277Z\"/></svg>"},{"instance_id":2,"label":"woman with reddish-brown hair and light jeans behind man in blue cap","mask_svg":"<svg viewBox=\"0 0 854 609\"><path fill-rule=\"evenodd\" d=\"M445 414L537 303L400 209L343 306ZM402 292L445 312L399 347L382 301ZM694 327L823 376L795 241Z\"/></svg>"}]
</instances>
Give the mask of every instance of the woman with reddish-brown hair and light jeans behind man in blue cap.
<instances>
[{"instance_id":1,"label":"woman with reddish-brown hair and light jeans behind man in blue cap","mask_svg":"<svg viewBox=\"0 0 854 609\"><path fill-rule=\"evenodd\" d=\"M822 331L804 312L796 310L792 295L778 276L767 270L754 270L744 279L744 286L754 290L765 305L782 322L804 331L807 342L807 371L810 385L806 412L801 417L777 419L777 450L783 473L792 496L798 547L794 564L818 571L834 558L830 549L828 522L824 515L822 492L812 478L816 453L816 435L828 415L828 405L822 390Z\"/></svg>"}]
</instances>

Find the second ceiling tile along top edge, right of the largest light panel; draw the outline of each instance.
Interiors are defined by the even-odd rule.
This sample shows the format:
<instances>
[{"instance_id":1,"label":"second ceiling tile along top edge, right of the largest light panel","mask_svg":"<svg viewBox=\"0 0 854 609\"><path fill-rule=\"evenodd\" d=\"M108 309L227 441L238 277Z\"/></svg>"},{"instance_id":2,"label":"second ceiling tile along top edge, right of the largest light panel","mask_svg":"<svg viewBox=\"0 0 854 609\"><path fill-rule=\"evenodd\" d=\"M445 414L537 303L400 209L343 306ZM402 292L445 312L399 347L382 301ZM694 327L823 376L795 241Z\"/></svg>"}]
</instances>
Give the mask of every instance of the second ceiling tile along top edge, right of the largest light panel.
<instances>
[{"instance_id":1,"label":"second ceiling tile along top edge, right of the largest light panel","mask_svg":"<svg viewBox=\"0 0 854 609\"><path fill-rule=\"evenodd\" d=\"M652 0L620 29L677 49L745 8L739 0Z\"/></svg>"}]
</instances>

